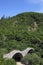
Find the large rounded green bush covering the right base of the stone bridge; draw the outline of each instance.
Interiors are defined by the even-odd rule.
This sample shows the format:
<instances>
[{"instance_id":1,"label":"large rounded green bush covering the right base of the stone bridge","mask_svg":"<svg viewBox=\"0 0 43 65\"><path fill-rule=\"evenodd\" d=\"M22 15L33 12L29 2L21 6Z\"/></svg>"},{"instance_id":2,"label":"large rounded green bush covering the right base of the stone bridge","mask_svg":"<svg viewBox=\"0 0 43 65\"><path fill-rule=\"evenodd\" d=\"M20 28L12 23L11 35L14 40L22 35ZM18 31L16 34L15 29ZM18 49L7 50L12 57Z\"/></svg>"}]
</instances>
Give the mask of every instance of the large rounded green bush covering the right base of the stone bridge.
<instances>
[{"instance_id":1,"label":"large rounded green bush covering the right base of the stone bridge","mask_svg":"<svg viewBox=\"0 0 43 65\"><path fill-rule=\"evenodd\" d=\"M35 53L27 54L23 59L22 63L25 65L39 65L40 64L40 57Z\"/></svg>"}]
</instances>

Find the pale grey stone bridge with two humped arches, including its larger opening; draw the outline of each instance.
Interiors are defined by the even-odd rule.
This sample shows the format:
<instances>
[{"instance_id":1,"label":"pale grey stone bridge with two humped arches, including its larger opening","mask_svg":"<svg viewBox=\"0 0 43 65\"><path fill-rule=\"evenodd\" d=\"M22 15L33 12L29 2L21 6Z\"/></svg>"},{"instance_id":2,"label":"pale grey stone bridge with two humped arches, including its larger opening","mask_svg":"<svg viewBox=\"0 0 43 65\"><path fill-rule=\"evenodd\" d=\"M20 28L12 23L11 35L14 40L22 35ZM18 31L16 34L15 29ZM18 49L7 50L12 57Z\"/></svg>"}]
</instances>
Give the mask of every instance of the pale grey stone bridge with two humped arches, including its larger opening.
<instances>
[{"instance_id":1,"label":"pale grey stone bridge with two humped arches, including its larger opening","mask_svg":"<svg viewBox=\"0 0 43 65\"><path fill-rule=\"evenodd\" d=\"M20 50L13 50L8 54L4 54L3 58L5 59L10 59L13 58L15 59L15 61L21 61L22 58L29 53L30 51L34 51L34 48L27 48L24 51L20 51Z\"/></svg>"}]
</instances>

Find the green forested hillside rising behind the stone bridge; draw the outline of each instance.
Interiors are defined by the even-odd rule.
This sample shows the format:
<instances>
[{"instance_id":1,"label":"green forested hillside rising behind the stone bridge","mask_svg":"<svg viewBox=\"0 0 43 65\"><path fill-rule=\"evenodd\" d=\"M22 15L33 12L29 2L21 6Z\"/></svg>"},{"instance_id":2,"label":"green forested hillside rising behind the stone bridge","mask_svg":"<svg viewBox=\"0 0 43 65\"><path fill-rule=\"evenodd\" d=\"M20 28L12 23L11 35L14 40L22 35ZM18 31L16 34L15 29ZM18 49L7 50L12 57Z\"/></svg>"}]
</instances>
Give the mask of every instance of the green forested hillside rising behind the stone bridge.
<instances>
[{"instance_id":1,"label":"green forested hillside rising behind the stone bridge","mask_svg":"<svg viewBox=\"0 0 43 65\"><path fill-rule=\"evenodd\" d=\"M33 47L43 59L43 14L25 12L0 19L0 59L14 49ZM43 62L43 61L42 61Z\"/></svg>"}]
</instances>

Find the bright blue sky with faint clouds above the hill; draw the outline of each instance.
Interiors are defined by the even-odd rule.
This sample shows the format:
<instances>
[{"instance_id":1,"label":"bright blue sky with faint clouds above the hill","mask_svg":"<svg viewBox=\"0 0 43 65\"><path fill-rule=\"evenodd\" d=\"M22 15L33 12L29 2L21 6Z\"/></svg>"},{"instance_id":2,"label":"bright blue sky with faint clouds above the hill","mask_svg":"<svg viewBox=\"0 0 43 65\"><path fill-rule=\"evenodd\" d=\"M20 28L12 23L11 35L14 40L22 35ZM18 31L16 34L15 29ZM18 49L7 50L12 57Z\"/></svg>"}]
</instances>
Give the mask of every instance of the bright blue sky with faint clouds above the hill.
<instances>
[{"instance_id":1,"label":"bright blue sky with faint clouds above the hill","mask_svg":"<svg viewBox=\"0 0 43 65\"><path fill-rule=\"evenodd\" d=\"M22 12L43 13L43 0L0 0L0 18L15 16Z\"/></svg>"}]
</instances>

